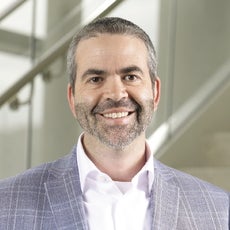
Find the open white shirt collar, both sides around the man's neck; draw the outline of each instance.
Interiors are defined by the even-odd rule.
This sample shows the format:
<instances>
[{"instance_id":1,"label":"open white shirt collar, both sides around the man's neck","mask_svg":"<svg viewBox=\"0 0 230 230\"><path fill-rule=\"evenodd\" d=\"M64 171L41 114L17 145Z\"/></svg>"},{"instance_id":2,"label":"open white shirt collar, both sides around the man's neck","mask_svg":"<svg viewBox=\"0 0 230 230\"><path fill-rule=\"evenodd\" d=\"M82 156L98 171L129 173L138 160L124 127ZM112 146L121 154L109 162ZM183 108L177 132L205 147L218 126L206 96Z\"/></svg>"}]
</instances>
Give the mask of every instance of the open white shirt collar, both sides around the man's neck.
<instances>
[{"instance_id":1,"label":"open white shirt collar, both sides around the man's neck","mask_svg":"<svg viewBox=\"0 0 230 230\"><path fill-rule=\"evenodd\" d=\"M86 155L83 145L82 145L82 137L83 134L80 135L77 144L77 164L79 169L79 177L80 177L80 184L81 190L84 191L86 178L92 172L95 172L98 175L106 175L105 173L101 172L96 165L88 158ZM153 154L150 149L150 145L146 141L146 163L142 167L142 169L133 177L132 183L135 186L143 187L143 185L147 182L148 183L148 192L151 192L153 180L154 180L154 158ZM108 176L108 175L106 175Z\"/></svg>"}]
</instances>

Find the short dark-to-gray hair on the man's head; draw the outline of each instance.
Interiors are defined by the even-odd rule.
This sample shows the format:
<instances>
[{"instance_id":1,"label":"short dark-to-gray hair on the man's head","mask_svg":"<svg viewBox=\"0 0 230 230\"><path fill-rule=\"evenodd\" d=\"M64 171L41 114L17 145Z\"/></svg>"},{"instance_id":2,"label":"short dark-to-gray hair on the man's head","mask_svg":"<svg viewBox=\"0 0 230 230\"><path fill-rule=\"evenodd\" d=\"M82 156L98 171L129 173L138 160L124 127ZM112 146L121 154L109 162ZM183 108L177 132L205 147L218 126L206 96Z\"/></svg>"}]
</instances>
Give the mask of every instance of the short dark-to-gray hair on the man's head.
<instances>
[{"instance_id":1,"label":"short dark-to-gray hair on the man's head","mask_svg":"<svg viewBox=\"0 0 230 230\"><path fill-rule=\"evenodd\" d=\"M99 34L124 34L131 35L142 40L148 50L148 67L151 81L154 85L157 60L156 51L149 38L148 34L136 24L118 17L105 17L97 19L85 27L83 27L72 39L67 54L67 71L69 75L69 83L72 86L74 93L74 85L77 72L77 63L75 60L77 46L80 41L91 37L96 37Z\"/></svg>"}]
</instances>

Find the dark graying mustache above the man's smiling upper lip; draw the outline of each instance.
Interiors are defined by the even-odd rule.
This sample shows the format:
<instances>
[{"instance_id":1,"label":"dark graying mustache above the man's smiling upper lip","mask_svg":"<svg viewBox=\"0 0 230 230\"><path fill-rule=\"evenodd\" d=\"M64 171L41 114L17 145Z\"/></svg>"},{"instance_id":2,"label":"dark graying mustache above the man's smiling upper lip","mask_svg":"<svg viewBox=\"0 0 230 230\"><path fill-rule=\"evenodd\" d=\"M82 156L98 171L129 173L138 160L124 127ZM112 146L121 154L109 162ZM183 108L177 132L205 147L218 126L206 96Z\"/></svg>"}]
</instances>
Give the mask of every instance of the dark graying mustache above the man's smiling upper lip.
<instances>
[{"instance_id":1,"label":"dark graying mustache above the man's smiling upper lip","mask_svg":"<svg viewBox=\"0 0 230 230\"><path fill-rule=\"evenodd\" d=\"M135 111L141 110L141 106L133 99L121 99L119 101L114 101L112 99L109 99L107 101L101 102L100 104L96 105L92 109L92 113L93 114L103 113L103 111L106 109L113 109L113 108L120 108L120 107L125 107Z\"/></svg>"}]
</instances>

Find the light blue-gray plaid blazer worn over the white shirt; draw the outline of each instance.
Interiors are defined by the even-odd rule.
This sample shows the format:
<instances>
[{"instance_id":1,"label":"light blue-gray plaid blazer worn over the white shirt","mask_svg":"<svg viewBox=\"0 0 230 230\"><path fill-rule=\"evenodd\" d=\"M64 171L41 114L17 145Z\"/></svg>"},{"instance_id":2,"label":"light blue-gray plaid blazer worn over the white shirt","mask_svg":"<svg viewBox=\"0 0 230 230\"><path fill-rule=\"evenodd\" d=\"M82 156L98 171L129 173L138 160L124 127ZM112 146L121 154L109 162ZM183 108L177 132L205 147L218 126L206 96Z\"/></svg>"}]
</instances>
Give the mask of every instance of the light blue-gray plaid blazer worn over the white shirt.
<instances>
[{"instance_id":1,"label":"light blue-gray plaid blazer worn over the white shirt","mask_svg":"<svg viewBox=\"0 0 230 230\"><path fill-rule=\"evenodd\" d=\"M88 229L75 149L0 182L0 230ZM154 165L152 229L229 230L228 193L158 161Z\"/></svg>"}]
</instances>

